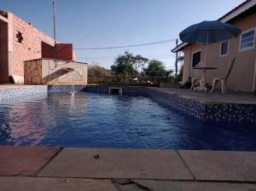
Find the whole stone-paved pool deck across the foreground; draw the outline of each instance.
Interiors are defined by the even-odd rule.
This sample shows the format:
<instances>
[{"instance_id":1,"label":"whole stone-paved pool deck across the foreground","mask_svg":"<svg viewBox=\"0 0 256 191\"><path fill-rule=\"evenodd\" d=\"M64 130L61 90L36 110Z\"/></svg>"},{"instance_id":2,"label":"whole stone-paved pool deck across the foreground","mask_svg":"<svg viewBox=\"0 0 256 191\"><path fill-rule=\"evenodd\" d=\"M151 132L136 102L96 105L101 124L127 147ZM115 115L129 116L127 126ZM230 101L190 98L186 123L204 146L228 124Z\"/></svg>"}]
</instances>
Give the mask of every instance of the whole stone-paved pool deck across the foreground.
<instances>
[{"instance_id":1,"label":"whole stone-paved pool deck across the foreground","mask_svg":"<svg viewBox=\"0 0 256 191\"><path fill-rule=\"evenodd\" d=\"M0 147L0 190L256 190L256 153Z\"/></svg>"}]
</instances>

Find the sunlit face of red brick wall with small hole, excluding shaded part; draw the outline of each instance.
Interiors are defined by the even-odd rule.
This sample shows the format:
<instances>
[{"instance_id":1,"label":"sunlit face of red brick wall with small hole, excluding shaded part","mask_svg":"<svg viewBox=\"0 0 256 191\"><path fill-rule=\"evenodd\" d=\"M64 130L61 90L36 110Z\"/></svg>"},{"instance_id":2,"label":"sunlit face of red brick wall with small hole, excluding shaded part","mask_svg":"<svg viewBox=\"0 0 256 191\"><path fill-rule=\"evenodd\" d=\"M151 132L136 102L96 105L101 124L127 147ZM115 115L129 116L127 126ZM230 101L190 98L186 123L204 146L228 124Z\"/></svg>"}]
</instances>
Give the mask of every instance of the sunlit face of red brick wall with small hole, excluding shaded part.
<instances>
[{"instance_id":1,"label":"sunlit face of red brick wall with small hole, excluding shaded part","mask_svg":"<svg viewBox=\"0 0 256 191\"><path fill-rule=\"evenodd\" d=\"M13 61L12 74L15 76L24 76L24 61L38 59L42 57L41 42L54 44L54 40L49 38L43 32L21 20L15 14L9 13L9 21L13 26ZM21 33L23 40L18 42L16 35Z\"/></svg>"}]
</instances>

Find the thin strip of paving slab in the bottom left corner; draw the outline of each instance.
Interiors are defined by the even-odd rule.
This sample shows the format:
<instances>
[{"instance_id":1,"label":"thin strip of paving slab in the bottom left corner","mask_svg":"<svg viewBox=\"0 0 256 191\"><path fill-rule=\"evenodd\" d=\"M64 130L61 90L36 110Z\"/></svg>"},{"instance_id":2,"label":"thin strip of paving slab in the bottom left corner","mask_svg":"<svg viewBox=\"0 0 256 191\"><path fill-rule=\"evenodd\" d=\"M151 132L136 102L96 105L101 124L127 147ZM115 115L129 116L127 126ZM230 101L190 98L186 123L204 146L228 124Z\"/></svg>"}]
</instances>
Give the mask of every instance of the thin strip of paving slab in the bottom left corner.
<instances>
[{"instance_id":1,"label":"thin strip of paving slab in the bottom left corner","mask_svg":"<svg viewBox=\"0 0 256 191\"><path fill-rule=\"evenodd\" d=\"M48 177L0 177L3 191L117 191L109 180Z\"/></svg>"}]
</instances>

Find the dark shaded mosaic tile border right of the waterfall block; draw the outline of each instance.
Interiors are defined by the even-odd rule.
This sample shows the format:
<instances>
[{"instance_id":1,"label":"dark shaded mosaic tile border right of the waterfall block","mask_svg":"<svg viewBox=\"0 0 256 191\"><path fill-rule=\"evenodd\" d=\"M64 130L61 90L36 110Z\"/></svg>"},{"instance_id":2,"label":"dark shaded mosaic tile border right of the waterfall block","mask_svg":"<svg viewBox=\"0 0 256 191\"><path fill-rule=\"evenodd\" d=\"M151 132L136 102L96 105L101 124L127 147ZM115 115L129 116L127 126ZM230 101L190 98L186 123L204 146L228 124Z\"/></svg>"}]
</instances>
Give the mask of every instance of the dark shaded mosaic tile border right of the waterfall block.
<instances>
[{"instance_id":1,"label":"dark shaded mosaic tile border right of the waterfall block","mask_svg":"<svg viewBox=\"0 0 256 191\"><path fill-rule=\"evenodd\" d=\"M90 85L84 90L108 94L109 87L120 86ZM166 93L156 88L132 86L122 88L124 96L148 96L166 107L172 107L204 121L256 123L256 104L206 103Z\"/></svg>"}]
</instances>

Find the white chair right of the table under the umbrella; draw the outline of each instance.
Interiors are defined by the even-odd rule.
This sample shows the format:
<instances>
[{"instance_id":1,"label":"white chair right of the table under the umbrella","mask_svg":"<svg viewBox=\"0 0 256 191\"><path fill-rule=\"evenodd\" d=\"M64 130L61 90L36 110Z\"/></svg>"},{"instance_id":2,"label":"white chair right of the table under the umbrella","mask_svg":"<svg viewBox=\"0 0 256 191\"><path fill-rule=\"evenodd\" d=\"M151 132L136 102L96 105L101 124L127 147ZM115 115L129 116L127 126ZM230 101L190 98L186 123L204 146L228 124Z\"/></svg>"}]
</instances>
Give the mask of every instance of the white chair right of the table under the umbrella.
<instances>
[{"instance_id":1,"label":"white chair right of the table under the umbrella","mask_svg":"<svg viewBox=\"0 0 256 191\"><path fill-rule=\"evenodd\" d=\"M221 92L224 94L225 90L226 90L226 83L228 78L230 77L230 73L232 72L232 69L234 67L235 64L235 60L236 58L234 57L232 59L232 61L230 62L230 65L228 67L228 70L226 72L226 74L224 75L224 77L219 77L219 78L212 78L212 90L211 92L213 92L215 90L215 84L218 83L218 81L220 81L221 84Z\"/></svg>"}]
</instances>

